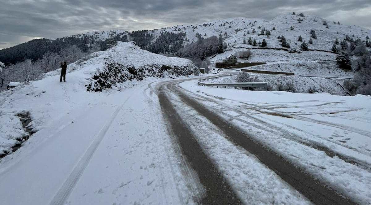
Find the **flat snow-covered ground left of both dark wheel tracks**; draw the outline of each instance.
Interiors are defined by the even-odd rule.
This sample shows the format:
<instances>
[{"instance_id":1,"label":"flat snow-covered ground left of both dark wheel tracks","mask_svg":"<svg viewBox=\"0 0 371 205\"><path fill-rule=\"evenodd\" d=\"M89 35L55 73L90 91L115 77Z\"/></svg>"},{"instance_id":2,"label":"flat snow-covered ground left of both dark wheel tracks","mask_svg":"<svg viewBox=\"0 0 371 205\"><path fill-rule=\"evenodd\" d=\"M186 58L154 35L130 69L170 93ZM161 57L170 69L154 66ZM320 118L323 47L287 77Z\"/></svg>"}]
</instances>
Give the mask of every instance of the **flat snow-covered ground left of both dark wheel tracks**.
<instances>
[{"instance_id":1,"label":"flat snow-covered ground left of both dark wheel tracks","mask_svg":"<svg viewBox=\"0 0 371 205\"><path fill-rule=\"evenodd\" d=\"M35 108L55 120L1 160L1 204L193 204L202 188L197 177L182 174L184 163L173 149L150 82L95 94L30 86L45 89L42 98L53 99L58 108Z\"/></svg>"}]
</instances>

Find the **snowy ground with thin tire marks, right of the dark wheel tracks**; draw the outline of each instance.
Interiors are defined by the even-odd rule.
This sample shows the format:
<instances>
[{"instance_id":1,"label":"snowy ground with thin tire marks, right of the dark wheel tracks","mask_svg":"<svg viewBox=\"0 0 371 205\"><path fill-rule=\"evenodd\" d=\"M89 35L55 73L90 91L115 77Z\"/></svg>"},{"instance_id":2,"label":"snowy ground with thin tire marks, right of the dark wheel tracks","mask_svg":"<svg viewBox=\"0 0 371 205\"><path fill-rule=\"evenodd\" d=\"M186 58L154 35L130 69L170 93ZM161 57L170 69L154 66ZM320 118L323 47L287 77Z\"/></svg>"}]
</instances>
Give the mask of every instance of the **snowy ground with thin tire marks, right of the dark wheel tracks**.
<instances>
[{"instance_id":1,"label":"snowy ground with thin tire marks, right of the dark wheel tracks","mask_svg":"<svg viewBox=\"0 0 371 205\"><path fill-rule=\"evenodd\" d=\"M209 109L360 204L371 199L371 97L183 88Z\"/></svg>"}]
</instances>

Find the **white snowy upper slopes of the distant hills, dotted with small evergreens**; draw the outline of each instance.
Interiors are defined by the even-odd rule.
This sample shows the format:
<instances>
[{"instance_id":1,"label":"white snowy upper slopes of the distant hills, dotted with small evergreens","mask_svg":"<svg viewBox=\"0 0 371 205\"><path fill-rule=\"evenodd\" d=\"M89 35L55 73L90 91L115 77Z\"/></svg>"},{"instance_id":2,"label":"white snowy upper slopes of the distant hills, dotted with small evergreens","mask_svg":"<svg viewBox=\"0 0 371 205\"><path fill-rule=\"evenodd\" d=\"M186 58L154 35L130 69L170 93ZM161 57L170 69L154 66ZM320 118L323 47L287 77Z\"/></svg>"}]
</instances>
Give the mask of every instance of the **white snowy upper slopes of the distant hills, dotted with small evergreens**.
<instances>
[{"instance_id":1,"label":"white snowy upper slopes of the distant hills, dotted with small evergreens","mask_svg":"<svg viewBox=\"0 0 371 205\"><path fill-rule=\"evenodd\" d=\"M299 23L298 19L302 19ZM324 21L327 22L328 28L324 25ZM221 25L221 26L220 26ZM290 27L293 26L293 30ZM260 28L259 28L260 27ZM273 30L275 27L275 30ZM252 33L255 29L256 33ZM271 35L267 38L266 35L260 35L260 30L267 29L270 30ZM350 36L351 38L360 38L365 40L367 36L371 37L371 30L357 26L357 25L343 25L337 24L337 22L331 22L322 19L318 16L305 14L304 17L293 15L293 14L281 14L274 19L264 20L264 19L250 19L246 17L237 17L229 19L219 19L211 20L204 23L197 23L192 25L177 25L162 29L155 29L149 31L154 35L154 42L161 32L184 32L186 33L185 38L189 41L184 41L184 44L197 41L196 33L200 33L204 38L210 36L223 35L225 38L225 33L227 33L227 38L224 39L229 45L232 46L243 46L247 48L253 48L248 44L243 44L243 39L248 39L249 37L256 39L257 42L266 39L268 47L282 48L278 39L276 37L284 35L286 40L290 43L291 48L299 49L301 42L298 41L298 37L302 36L303 40L308 42L311 34L309 33L311 29L315 30L317 39L312 39L313 44L308 44L309 49L319 49L331 51L331 47L336 38L339 40L344 39L345 36ZM236 30L239 30L236 32ZM249 34L247 34L249 32ZM95 31L84 33L78 36L93 36L94 39L106 40L115 34L122 33L128 34L129 32L124 30L109 30L109 31ZM206 36L205 36L206 34ZM245 35L245 36L243 36ZM236 43L234 43L236 41Z\"/></svg>"}]
</instances>

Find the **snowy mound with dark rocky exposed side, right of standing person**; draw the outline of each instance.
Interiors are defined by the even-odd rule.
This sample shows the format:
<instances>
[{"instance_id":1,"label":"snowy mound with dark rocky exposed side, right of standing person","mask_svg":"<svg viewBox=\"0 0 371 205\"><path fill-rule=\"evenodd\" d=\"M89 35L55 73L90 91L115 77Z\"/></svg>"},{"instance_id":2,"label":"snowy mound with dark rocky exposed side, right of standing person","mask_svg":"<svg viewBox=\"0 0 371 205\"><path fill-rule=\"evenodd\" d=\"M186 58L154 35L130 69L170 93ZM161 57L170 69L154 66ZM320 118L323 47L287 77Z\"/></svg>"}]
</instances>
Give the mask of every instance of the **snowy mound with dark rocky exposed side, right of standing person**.
<instances>
[{"instance_id":1,"label":"snowy mound with dark rocky exposed side, right of standing person","mask_svg":"<svg viewBox=\"0 0 371 205\"><path fill-rule=\"evenodd\" d=\"M45 76L59 75L60 69ZM143 80L146 77L179 77L198 75L192 61L172 58L142 50L135 42L117 42L106 50L92 53L68 65L67 81L76 75L87 91L102 91L122 82Z\"/></svg>"}]
</instances>

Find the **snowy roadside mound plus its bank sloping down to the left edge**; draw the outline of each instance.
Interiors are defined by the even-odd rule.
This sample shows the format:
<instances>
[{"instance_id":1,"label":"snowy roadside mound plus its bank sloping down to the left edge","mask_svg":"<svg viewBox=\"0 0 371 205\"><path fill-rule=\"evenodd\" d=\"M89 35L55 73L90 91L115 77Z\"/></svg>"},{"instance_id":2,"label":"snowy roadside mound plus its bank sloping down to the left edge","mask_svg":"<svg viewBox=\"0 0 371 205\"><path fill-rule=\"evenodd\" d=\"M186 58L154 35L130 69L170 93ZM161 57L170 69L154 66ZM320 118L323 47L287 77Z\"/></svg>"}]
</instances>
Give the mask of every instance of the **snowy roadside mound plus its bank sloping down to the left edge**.
<instances>
[{"instance_id":1,"label":"snowy roadside mound plus its bank sloping down to the left edge","mask_svg":"<svg viewBox=\"0 0 371 205\"><path fill-rule=\"evenodd\" d=\"M41 80L22 84L0 93L0 155L27 137L18 114L32 118L33 132L59 118L60 108L86 107L86 100L99 101L105 93L87 91L127 88L146 78L198 75L192 61L144 51L133 42L118 42L107 51L95 52L68 65L66 83L59 82L60 69L46 73ZM82 109L83 110L83 109ZM63 110L63 112L66 110Z\"/></svg>"}]
</instances>

